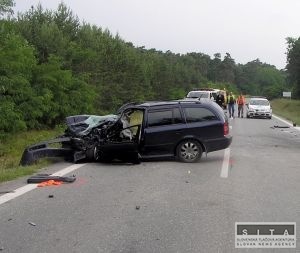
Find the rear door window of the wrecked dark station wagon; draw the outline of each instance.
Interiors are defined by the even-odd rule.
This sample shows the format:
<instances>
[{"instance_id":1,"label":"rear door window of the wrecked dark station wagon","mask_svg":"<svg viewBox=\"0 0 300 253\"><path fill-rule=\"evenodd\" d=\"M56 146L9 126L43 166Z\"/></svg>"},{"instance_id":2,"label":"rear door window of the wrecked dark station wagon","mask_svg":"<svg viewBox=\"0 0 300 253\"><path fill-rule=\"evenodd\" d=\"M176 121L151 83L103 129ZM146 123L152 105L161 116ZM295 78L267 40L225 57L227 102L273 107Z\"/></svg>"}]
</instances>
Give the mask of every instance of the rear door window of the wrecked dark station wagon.
<instances>
[{"instance_id":1,"label":"rear door window of the wrecked dark station wagon","mask_svg":"<svg viewBox=\"0 0 300 253\"><path fill-rule=\"evenodd\" d=\"M182 123L181 114L178 108L148 112L149 127L178 123Z\"/></svg>"}]
</instances>

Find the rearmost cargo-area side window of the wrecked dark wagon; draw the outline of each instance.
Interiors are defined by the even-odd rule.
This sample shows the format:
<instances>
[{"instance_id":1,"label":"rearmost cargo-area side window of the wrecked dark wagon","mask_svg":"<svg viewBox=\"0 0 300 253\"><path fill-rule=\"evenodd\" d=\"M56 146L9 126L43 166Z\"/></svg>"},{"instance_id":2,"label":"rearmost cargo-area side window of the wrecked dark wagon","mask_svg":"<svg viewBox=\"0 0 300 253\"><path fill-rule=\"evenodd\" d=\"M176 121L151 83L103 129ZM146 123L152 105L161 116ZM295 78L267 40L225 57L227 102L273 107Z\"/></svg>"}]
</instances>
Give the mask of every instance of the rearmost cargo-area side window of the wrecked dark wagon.
<instances>
[{"instance_id":1,"label":"rearmost cargo-area side window of the wrecked dark wagon","mask_svg":"<svg viewBox=\"0 0 300 253\"><path fill-rule=\"evenodd\" d=\"M203 122L203 121L211 121L217 120L217 116L210 110L206 108L184 108L186 122Z\"/></svg>"}]
</instances>

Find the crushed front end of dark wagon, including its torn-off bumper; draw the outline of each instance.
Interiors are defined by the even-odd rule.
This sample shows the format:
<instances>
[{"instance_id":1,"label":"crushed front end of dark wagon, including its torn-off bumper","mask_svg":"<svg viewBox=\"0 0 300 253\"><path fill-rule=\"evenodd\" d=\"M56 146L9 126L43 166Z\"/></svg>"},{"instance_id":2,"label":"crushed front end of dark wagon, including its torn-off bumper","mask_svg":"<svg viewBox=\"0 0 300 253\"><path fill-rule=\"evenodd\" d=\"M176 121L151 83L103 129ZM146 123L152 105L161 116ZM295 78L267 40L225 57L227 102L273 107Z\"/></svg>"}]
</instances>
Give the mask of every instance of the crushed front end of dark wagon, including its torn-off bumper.
<instances>
[{"instance_id":1,"label":"crushed front end of dark wagon, including its torn-off bumper","mask_svg":"<svg viewBox=\"0 0 300 253\"><path fill-rule=\"evenodd\" d=\"M45 157L64 157L71 162L82 159L97 160L97 147L101 138L105 130L117 119L117 115L67 117L64 135L25 148L20 165L31 165Z\"/></svg>"}]
</instances>

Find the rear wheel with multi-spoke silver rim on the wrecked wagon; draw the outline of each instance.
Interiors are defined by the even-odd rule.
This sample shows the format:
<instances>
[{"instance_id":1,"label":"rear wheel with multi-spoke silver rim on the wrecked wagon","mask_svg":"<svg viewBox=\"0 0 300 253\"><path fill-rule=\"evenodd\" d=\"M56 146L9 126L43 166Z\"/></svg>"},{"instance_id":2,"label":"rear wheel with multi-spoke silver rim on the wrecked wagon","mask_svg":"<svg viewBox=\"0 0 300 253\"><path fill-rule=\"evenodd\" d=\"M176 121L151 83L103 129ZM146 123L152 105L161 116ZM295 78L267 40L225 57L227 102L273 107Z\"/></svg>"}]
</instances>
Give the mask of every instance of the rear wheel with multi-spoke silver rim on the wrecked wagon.
<instances>
[{"instance_id":1,"label":"rear wheel with multi-spoke silver rim on the wrecked wagon","mask_svg":"<svg viewBox=\"0 0 300 253\"><path fill-rule=\"evenodd\" d=\"M195 140L185 140L177 146L177 158L185 163L197 162L202 156L202 147Z\"/></svg>"}]
</instances>

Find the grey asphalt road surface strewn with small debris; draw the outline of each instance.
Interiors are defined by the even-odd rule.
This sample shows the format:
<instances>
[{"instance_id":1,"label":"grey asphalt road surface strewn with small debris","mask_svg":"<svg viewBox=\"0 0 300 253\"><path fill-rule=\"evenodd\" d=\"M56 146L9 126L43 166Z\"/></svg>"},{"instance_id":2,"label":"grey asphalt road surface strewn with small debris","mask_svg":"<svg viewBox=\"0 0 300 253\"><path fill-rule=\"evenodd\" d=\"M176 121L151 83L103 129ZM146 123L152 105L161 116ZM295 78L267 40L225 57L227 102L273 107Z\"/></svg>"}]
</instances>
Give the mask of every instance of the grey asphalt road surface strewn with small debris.
<instances>
[{"instance_id":1,"label":"grey asphalt road surface strewn with small debris","mask_svg":"<svg viewBox=\"0 0 300 253\"><path fill-rule=\"evenodd\" d=\"M224 151L195 164L86 164L70 173L75 183L0 205L0 252L300 252L300 232L296 249L234 244L235 222L296 222L300 231L300 131L273 128L284 125L275 119L230 125L227 177Z\"/></svg>"}]
</instances>

